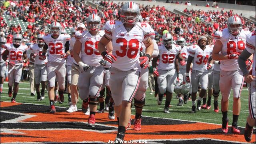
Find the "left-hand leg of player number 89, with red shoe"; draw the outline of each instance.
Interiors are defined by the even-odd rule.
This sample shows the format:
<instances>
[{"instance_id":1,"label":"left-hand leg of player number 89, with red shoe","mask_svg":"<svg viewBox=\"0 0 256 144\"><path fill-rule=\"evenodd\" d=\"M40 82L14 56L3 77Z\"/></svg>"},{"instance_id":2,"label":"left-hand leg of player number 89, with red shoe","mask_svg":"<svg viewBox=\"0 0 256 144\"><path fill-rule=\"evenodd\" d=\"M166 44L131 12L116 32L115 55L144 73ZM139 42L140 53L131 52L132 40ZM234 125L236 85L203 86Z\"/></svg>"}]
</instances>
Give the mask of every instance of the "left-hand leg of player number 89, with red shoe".
<instances>
[{"instance_id":1,"label":"left-hand leg of player number 89, with red shoe","mask_svg":"<svg viewBox=\"0 0 256 144\"><path fill-rule=\"evenodd\" d=\"M231 91L232 71L220 70L220 92L222 111L222 132L228 132L228 99Z\"/></svg>"}]
</instances>

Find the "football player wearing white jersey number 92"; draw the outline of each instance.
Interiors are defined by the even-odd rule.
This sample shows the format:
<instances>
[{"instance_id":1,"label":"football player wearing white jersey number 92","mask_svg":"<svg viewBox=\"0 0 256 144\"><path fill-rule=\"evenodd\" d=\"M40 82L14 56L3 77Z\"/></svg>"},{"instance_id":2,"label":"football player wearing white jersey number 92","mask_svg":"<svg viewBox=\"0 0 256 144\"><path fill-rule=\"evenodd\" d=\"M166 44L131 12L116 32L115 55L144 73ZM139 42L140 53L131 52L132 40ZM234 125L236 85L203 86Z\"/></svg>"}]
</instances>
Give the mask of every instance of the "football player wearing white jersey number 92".
<instances>
[{"instance_id":1,"label":"football player wearing white jersey number 92","mask_svg":"<svg viewBox=\"0 0 256 144\"><path fill-rule=\"evenodd\" d=\"M156 61L153 61L153 71L158 77L157 82L160 94L166 93L166 101L164 106L164 113L170 113L169 105L172 100L172 93L178 78L178 65L176 60L179 59L182 66L186 64L184 58L180 54L181 46L173 44L173 38L170 33L165 33L162 36L163 44L158 46L159 49L159 64L156 68Z\"/></svg>"}]
</instances>

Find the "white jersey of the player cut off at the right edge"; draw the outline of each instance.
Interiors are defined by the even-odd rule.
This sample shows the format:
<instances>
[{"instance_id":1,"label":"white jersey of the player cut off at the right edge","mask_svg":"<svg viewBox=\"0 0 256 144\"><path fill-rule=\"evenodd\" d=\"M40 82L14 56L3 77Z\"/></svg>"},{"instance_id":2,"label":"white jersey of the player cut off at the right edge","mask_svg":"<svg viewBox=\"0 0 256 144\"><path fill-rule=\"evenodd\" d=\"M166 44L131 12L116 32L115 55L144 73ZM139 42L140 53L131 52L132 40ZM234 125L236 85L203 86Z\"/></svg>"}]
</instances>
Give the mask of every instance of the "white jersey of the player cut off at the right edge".
<instances>
[{"instance_id":1,"label":"white jersey of the player cut off at the right edge","mask_svg":"<svg viewBox=\"0 0 256 144\"><path fill-rule=\"evenodd\" d=\"M253 64L252 64L252 75L255 76L255 56L256 56L256 50L255 50L255 32L252 32L248 35L246 39L246 50L253 54Z\"/></svg>"}]
</instances>

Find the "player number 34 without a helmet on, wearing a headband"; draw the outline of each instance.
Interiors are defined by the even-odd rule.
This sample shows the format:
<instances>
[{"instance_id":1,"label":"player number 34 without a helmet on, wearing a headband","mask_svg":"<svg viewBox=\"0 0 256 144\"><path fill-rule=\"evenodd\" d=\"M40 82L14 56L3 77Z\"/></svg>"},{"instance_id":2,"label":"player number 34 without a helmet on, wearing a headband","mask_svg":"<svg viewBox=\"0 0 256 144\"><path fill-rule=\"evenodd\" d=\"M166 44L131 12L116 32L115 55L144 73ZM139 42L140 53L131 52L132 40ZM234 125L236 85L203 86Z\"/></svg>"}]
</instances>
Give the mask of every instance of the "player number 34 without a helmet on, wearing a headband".
<instances>
[{"instance_id":1,"label":"player number 34 without a helmet on, wearing a headband","mask_svg":"<svg viewBox=\"0 0 256 144\"><path fill-rule=\"evenodd\" d=\"M212 48L206 46L207 38L200 36L198 39L198 45L192 45L189 47L188 61L186 65L186 82L190 82L189 72L190 65L193 62L191 84L192 84L192 113L196 112L196 93L198 90L198 84L201 84L201 92L197 101L197 110L201 110L201 100L203 99L206 88L208 86L208 70L212 68L213 61L210 61L207 66L208 58L212 54Z\"/></svg>"}]
</instances>

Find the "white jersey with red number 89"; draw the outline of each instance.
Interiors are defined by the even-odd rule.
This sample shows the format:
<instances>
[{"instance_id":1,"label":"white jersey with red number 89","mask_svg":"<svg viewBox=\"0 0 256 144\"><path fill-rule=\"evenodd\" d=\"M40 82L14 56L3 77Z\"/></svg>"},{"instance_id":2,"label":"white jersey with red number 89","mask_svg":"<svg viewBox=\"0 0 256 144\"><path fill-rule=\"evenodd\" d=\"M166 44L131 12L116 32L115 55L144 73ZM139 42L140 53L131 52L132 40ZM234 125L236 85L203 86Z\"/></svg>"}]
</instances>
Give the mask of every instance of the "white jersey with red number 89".
<instances>
[{"instance_id":1,"label":"white jersey with red number 89","mask_svg":"<svg viewBox=\"0 0 256 144\"><path fill-rule=\"evenodd\" d=\"M222 55L231 54L232 52L242 53L249 33L248 30L241 30L237 36L233 36L228 32L228 28L225 28L223 31L215 32L214 40L220 40L222 43ZM220 69L226 71L239 70L237 59L221 60Z\"/></svg>"}]
</instances>

